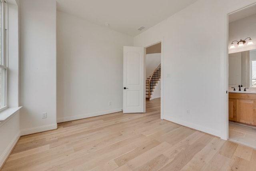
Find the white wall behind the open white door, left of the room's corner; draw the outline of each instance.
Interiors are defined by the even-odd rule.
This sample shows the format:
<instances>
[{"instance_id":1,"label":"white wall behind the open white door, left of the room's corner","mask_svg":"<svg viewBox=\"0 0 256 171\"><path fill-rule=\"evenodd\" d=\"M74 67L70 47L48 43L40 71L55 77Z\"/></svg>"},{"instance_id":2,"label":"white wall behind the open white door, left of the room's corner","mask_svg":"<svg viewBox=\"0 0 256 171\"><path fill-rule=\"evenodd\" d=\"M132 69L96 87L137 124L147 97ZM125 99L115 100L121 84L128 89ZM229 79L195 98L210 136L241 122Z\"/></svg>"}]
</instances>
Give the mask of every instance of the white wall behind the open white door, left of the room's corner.
<instances>
[{"instance_id":1,"label":"white wall behind the open white door, left of the room's corner","mask_svg":"<svg viewBox=\"0 0 256 171\"><path fill-rule=\"evenodd\" d=\"M57 12L58 122L121 111L123 46L132 45L130 36Z\"/></svg>"}]
</instances>

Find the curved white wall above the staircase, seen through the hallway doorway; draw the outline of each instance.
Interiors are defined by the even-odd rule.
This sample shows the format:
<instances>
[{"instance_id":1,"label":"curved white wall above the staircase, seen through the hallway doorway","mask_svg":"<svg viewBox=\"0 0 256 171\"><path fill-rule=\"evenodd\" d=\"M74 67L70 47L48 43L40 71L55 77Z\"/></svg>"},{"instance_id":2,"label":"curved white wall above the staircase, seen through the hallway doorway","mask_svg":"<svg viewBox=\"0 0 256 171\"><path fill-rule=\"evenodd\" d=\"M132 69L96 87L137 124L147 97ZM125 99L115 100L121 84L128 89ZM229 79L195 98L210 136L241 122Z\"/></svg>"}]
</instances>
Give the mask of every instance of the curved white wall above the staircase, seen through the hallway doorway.
<instances>
[{"instance_id":1,"label":"curved white wall above the staircase, seen through the hallway doorway","mask_svg":"<svg viewBox=\"0 0 256 171\"><path fill-rule=\"evenodd\" d=\"M154 72L154 70L160 63L161 63L161 53L146 54L146 77L152 74L152 72Z\"/></svg>"}]
</instances>

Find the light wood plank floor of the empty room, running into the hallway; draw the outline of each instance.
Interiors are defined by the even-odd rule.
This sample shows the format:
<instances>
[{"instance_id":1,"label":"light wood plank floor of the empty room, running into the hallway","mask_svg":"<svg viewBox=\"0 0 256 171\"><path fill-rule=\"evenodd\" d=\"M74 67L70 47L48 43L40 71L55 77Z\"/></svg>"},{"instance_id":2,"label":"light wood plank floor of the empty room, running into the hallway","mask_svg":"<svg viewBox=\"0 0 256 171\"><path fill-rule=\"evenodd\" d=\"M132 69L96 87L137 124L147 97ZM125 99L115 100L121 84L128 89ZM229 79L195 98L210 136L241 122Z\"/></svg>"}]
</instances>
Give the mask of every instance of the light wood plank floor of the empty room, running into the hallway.
<instances>
[{"instance_id":1,"label":"light wood plank floor of the empty room, running into the hallway","mask_svg":"<svg viewBox=\"0 0 256 171\"><path fill-rule=\"evenodd\" d=\"M113 113L59 123L20 138L2 171L255 171L256 150L147 113Z\"/></svg>"}]
</instances>

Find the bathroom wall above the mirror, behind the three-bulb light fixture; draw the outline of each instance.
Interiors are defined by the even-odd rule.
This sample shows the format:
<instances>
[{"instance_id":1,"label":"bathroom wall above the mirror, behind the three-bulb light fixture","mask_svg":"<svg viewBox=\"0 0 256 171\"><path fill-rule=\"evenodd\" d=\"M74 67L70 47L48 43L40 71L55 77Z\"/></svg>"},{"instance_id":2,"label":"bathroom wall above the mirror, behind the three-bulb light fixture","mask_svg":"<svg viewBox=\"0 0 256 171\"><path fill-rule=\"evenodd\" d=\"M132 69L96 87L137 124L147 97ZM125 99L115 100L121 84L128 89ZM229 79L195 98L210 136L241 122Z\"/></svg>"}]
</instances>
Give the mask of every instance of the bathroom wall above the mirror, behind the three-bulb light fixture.
<instances>
[{"instance_id":1,"label":"bathroom wall above the mirror, behind the three-bulb light fixture","mask_svg":"<svg viewBox=\"0 0 256 171\"><path fill-rule=\"evenodd\" d=\"M246 44L243 47L236 47L236 48L229 49L229 53L256 49L256 14L229 23L228 30L229 30L228 31L229 46L234 40L239 42L241 39L244 40L245 38L248 38L248 37L250 37L254 42L253 45L246 45L248 42L248 39L247 39ZM237 42L234 42L234 44L235 43Z\"/></svg>"}]
</instances>

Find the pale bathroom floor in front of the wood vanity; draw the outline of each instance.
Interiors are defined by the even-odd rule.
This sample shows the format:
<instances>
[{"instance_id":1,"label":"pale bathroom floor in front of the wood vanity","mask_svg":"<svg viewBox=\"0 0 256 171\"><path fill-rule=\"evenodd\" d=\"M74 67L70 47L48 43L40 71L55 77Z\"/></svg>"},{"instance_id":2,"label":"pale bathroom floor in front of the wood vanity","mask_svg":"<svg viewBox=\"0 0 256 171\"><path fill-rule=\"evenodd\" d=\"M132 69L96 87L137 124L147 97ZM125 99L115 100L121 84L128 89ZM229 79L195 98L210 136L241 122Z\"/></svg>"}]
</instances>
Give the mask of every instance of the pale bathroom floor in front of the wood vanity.
<instances>
[{"instance_id":1,"label":"pale bathroom floor in front of the wood vanity","mask_svg":"<svg viewBox=\"0 0 256 171\"><path fill-rule=\"evenodd\" d=\"M229 140L256 149L256 127L229 123Z\"/></svg>"}]
</instances>

